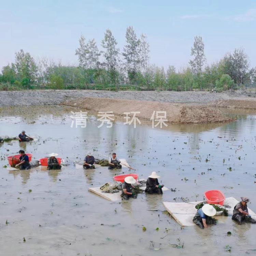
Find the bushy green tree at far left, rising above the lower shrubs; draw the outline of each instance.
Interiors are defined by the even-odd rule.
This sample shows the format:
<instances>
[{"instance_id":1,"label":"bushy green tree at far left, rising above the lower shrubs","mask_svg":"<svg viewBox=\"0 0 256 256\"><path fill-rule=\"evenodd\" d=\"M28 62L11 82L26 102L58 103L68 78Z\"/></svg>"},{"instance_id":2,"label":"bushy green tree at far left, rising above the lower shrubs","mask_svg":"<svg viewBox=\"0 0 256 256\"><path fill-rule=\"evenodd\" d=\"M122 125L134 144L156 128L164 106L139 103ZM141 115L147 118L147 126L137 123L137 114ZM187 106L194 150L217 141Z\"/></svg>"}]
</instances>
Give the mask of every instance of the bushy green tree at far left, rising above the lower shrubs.
<instances>
[{"instance_id":1,"label":"bushy green tree at far left, rising above the lower shrubs","mask_svg":"<svg viewBox=\"0 0 256 256\"><path fill-rule=\"evenodd\" d=\"M15 71L23 85L29 85L37 77L38 67L29 53L23 49L15 53Z\"/></svg>"}]
</instances>

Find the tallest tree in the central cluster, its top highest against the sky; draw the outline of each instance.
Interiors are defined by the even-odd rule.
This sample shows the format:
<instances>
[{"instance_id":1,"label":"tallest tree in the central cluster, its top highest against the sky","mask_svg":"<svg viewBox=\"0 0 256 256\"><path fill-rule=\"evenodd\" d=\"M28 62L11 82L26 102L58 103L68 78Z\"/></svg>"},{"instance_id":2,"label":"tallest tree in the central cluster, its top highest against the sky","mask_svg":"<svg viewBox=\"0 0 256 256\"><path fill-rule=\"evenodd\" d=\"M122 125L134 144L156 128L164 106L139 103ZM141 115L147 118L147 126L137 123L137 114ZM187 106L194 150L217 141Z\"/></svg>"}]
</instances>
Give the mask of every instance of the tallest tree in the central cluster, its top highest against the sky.
<instances>
[{"instance_id":1,"label":"tallest tree in the central cluster, its top highest against the sky","mask_svg":"<svg viewBox=\"0 0 256 256\"><path fill-rule=\"evenodd\" d=\"M132 26L126 29L126 45L123 49L123 56L126 61L126 68L130 82L137 84L136 75L140 71L140 44Z\"/></svg>"}]
</instances>

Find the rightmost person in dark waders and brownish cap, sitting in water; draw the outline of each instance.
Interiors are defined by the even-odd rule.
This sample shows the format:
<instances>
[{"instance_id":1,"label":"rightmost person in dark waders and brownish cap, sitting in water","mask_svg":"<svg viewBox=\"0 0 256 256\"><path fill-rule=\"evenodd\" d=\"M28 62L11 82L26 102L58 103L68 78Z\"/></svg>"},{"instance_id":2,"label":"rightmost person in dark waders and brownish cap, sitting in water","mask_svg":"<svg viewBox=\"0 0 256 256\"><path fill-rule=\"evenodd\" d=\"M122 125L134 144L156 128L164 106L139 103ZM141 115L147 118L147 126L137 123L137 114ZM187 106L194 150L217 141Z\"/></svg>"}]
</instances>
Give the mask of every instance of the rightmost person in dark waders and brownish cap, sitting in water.
<instances>
[{"instance_id":1,"label":"rightmost person in dark waders and brownish cap, sitting in water","mask_svg":"<svg viewBox=\"0 0 256 256\"><path fill-rule=\"evenodd\" d=\"M255 219L248 213L247 203L249 201L249 198L241 197L241 202L234 207L232 219L237 221L239 225L243 222L256 223Z\"/></svg>"}]
</instances>

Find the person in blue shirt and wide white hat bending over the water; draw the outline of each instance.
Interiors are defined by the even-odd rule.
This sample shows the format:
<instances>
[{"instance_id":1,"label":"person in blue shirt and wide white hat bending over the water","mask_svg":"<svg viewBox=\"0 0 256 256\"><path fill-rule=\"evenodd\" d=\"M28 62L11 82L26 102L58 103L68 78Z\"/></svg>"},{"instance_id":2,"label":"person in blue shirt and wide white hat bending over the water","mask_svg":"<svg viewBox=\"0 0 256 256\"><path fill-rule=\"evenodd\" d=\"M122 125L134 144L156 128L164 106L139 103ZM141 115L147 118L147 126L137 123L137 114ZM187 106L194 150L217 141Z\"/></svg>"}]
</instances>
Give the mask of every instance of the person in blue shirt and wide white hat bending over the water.
<instances>
[{"instance_id":1,"label":"person in blue shirt and wide white hat bending over the water","mask_svg":"<svg viewBox=\"0 0 256 256\"><path fill-rule=\"evenodd\" d=\"M216 224L216 219L212 218L215 214L216 210L211 204L204 204L202 208L197 210L193 222L201 229L207 228L207 225Z\"/></svg>"}]
</instances>

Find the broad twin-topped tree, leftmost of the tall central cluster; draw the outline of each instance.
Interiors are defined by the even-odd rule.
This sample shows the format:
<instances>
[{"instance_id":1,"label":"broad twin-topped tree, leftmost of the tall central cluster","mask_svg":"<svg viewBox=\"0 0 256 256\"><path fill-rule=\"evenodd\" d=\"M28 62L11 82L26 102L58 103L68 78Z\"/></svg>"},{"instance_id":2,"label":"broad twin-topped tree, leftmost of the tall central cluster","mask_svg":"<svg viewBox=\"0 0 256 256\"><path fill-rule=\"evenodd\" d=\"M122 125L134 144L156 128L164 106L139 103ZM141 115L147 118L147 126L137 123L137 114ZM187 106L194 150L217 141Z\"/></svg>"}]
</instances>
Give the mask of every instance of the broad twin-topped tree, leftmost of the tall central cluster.
<instances>
[{"instance_id":1,"label":"broad twin-topped tree, leftmost of the tall central cluster","mask_svg":"<svg viewBox=\"0 0 256 256\"><path fill-rule=\"evenodd\" d=\"M93 69L99 68L100 52L95 40L91 39L86 43L83 35L79 39L79 45L80 47L75 50L75 55L78 56L79 66L83 69L87 88L93 76Z\"/></svg>"}]
</instances>

